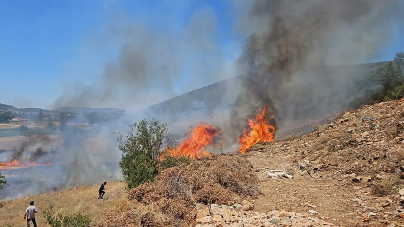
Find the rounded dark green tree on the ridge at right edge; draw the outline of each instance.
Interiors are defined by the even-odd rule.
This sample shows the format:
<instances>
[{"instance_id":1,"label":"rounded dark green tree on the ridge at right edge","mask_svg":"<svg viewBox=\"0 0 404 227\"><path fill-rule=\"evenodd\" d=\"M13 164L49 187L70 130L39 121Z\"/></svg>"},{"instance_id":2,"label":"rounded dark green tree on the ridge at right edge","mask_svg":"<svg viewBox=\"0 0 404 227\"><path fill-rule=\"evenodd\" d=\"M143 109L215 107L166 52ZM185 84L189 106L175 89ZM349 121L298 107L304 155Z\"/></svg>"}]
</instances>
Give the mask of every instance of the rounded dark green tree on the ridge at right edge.
<instances>
[{"instance_id":1,"label":"rounded dark green tree on the ridge at right edge","mask_svg":"<svg viewBox=\"0 0 404 227\"><path fill-rule=\"evenodd\" d=\"M387 91L403 82L402 72L397 65L389 61L386 66L377 69L373 81L382 85L383 90Z\"/></svg>"}]
</instances>

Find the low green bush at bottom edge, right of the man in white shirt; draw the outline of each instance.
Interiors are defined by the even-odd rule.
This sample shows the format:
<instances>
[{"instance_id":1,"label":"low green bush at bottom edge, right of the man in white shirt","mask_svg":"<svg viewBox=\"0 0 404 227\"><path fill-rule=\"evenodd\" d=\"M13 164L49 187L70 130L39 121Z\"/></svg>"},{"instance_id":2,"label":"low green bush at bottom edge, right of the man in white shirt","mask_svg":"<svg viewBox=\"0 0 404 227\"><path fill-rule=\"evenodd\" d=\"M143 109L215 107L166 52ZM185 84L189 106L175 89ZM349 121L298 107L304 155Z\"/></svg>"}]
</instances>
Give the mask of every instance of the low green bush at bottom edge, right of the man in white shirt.
<instances>
[{"instance_id":1,"label":"low green bush at bottom edge, right of the man in white shirt","mask_svg":"<svg viewBox=\"0 0 404 227\"><path fill-rule=\"evenodd\" d=\"M88 227L91 224L91 218L87 214L55 214L53 205L43 210L43 217L51 227Z\"/></svg>"}]
</instances>

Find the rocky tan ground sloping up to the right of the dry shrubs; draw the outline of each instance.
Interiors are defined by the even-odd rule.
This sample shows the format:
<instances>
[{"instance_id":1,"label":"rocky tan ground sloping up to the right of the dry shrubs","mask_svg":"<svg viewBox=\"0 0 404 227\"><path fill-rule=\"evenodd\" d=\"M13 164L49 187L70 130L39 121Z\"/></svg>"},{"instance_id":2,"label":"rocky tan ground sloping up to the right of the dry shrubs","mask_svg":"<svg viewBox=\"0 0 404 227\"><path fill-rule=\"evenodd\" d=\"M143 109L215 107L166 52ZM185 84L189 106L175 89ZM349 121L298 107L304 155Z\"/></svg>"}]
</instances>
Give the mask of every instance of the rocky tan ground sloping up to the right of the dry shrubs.
<instances>
[{"instance_id":1,"label":"rocky tan ground sloping up to the right of the dry shrubs","mask_svg":"<svg viewBox=\"0 0 404 227\"><path fill-rule=\"evenodd\" d=\"M246 201L197 205L197 226L404 226L404 100L313 128L252 147L244 156L259 178L261 194L247 198L254 209L243 209ZM293 178L271 177L270 170Z\"/></svg>"}]
</instances>

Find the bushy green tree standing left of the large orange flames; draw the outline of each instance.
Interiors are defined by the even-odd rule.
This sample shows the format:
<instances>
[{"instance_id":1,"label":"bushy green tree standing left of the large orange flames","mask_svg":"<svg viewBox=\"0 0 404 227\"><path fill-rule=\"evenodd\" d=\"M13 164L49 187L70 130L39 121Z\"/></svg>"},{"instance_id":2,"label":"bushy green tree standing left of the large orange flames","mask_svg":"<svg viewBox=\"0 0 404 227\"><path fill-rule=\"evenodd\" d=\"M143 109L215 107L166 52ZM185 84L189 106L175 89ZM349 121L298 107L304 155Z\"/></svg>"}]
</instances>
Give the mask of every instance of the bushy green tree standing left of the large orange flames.
<instances>
[{"instance_id":1,"label":"bushy green tree standing left of the large orange flames","mask_svg":"<svg viewBox=\"0 0 404 227\"><path fill-rule=\"evenodd\" d=\"M146 120L130 125L130 132L123 137L118 133L118 148L123 152L119 166L128 188L151 181L156 174L158 157L167 138L167 124Z\"/></svg>"}]
</instances>

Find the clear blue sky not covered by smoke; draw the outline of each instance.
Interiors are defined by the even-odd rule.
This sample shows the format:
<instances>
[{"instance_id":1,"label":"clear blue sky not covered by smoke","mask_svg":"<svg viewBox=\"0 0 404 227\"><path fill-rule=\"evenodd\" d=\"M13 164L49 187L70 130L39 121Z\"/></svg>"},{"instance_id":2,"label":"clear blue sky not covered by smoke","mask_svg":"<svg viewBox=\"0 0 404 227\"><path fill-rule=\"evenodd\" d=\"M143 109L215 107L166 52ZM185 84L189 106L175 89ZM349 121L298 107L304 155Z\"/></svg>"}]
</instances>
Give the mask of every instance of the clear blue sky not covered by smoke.
<instances>
[{"instance_id":1,"label":"clear blue sky not covered by smoke","mask_svg":"<svg viewBox=\"0 0 404 227\"><path fill-rule=\"evenodd\" d=\"M106 62L117 60L122 39L111 28L121 23L139 24L175 37L198 11L213 15L216 51L231 68L248 36L237 27L241 15L236 2L242 1L0 1L0 103L53 109L57 107L55 100L69 93L69 86L92 86L103 74ZM394 30L394 37L372 61L390 60L396 52L404 51L404 29L396 25ZM223 78L211 77L189 86L192 75L184 72L190 71L190 64L178 70L180 76L167 99L237 76L229 69ZM164 98L152 99L150 104ZM108 105L104 107L121 107Z\"/></svg>"}]
</instances>

